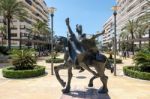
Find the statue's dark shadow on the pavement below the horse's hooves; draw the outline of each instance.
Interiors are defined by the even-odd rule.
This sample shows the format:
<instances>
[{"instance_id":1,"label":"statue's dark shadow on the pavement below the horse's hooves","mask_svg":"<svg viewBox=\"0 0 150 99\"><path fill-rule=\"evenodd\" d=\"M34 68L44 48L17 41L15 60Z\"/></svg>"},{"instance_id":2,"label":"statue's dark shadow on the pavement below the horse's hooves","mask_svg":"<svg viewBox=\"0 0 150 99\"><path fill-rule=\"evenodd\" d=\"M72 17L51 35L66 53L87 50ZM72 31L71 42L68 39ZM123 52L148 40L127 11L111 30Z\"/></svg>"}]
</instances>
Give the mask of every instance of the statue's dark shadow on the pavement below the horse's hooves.
<instances>
[{"instance_id":1,"label":"statue's dark shadow on the pavement below the horse's hooves","mask_svg":"<svg viewBox=\"0 0 150 99\"><path fill-rule=\"evenodd\" d=\"M111 99L109 94L100 94L97 89L87 88L85 91L82 90L73 90L68 94L63 94L60 99Z\"/></svg>"}]
</instances>

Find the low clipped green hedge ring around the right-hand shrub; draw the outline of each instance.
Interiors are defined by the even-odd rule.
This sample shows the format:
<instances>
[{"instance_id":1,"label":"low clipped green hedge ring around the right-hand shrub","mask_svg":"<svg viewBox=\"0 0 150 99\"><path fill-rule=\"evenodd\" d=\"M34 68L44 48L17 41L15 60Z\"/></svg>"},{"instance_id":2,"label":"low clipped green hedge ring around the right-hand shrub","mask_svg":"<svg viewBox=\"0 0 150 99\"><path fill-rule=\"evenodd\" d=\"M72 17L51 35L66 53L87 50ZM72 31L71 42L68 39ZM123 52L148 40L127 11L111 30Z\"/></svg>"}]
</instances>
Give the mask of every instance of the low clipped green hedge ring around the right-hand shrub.
<instances>
[{"instance_id":1,"label":"low clipped green hedge ring around the right-hand shrub","mask_svg":"<svg viewBox=\"0 0 150 99\"><path fill-rule=\"evenodd\" d=\"M150 73L134 70L133 66L123 67L123 72L126 76L129 76L129 77L139 78L143 80L150 80Z\"/></svg>"}]
</instances>

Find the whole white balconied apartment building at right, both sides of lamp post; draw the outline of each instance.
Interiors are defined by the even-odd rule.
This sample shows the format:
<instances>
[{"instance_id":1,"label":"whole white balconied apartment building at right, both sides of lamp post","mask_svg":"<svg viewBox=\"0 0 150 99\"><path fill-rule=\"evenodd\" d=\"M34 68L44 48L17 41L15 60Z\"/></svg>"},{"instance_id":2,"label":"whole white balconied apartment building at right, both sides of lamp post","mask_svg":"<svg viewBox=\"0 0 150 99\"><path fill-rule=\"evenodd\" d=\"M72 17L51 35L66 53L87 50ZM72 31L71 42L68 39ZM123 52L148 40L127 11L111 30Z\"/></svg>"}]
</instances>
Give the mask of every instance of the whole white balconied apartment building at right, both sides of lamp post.
<instances>
[{"instance_id":1,"label":"whole white balconied apartment building at right, both sides of lamp post","mask_svg":"<svg viewBox=\"0 0 150 99\"><path fill-rule=\"evenodd\" d=\"M135 20L141 16L145 10L148 10L146 0L116 0L119 9L117 11L117 40L120 33L123 31L128 20ZM103 29L103 45L112 41L114 33L114 18L113 15L105 22Z\"/></svg>"}]
</instances>

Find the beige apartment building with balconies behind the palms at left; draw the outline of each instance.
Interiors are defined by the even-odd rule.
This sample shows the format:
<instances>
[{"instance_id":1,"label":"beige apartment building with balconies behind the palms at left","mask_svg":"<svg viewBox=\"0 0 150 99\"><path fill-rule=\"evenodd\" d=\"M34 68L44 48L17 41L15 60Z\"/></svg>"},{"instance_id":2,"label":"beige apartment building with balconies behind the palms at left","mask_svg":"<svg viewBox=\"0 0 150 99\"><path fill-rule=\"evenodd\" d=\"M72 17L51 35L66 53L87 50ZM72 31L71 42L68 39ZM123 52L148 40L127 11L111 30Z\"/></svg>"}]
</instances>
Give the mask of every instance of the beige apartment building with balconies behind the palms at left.
<instances>
[{"instance_id":1,"label":"beige apartment building with balconies behind the palms at left","mask_svg":"<svg viewBox=\"0 0 150 99\"><path fill-rule=\"evenodd\" d=\"M19 1L19 0L18 0ZM31 32L32 25L38 20L48 22L48 7L44 0L21 0L25 5L25 9L28 11L28 17L26 20L13 19L11 24L11 36L12 39L27 39ZM0 16L0 25L3 25L3 17ZM4 45L7 46L7 40ZM12 47L19 46L19 41L11 41ZM23 46L26 44L22 42Z\"/></svg>"}]
</instances>

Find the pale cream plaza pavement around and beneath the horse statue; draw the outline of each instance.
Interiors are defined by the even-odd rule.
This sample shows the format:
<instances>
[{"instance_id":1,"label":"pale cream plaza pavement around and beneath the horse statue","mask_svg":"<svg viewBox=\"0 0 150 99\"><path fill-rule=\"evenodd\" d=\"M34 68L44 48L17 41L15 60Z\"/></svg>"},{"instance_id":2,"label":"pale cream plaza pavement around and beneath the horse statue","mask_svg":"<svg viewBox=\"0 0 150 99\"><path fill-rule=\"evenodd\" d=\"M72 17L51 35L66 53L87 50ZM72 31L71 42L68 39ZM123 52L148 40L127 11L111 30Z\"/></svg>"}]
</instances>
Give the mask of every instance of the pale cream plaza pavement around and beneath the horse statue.
<instances>
[{"instance_id":1,"label":"pale cream plaza pavement around and beneath the horse statue","mask_svg":"<svg viewBox=\"0 0 150 99\"><path fill-rule=\"evenodd\" d=\"M88 88L92 75L87 71L79 73L79 70L73 70L71 93L62 94L62 87L55 75L51 75L51 65L45 63L43 58L38 60L38 64L46 66L47 74L28 79L4 78L0 69L0 99L150 99L150 81L123 75L122 67L132 64L129 58L125 59L123 64L117 65L117 76L106 70L106 75L109 76L108 94L97 93L97 89L102 86L100 79L94 81L93 88ZM63 79L67 79L66 70L62 70L60 75Z\"/></svg>"}]
</instances>

